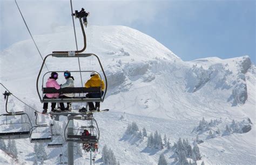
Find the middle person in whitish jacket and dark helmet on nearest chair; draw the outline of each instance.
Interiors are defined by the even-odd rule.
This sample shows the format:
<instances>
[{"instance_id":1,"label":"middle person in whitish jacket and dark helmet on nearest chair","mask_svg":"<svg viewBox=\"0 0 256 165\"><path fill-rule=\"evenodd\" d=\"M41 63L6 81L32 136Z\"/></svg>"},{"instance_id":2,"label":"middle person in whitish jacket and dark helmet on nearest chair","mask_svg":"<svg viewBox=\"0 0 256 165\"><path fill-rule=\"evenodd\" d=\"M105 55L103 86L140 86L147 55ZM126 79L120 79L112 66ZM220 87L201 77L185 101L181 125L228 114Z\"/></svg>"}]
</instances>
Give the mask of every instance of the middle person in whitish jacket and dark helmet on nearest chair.
<instances>
[{"instance_id":1,"label":"middle person in whitish jacket and dark helmet on nearest chair","mask_svg":"<svg viewBox=\"0 0 256 165\"><path fill-rule=\"evenodd\" d=\"M74 78L71 76L71 73L69 71L65 71L64 72L64 77L66 79L66 83L60 85L61 88L75 87L75 85L74 85ZM64 93L64 94L60 95L60 98L63 98L63 99L70 99L70 98L73 98L73 97L75 97L75 93ZM67 104L67 106L65 108L63 102L59 103L61 111L69 110L71 108L70 107L71 106L70 102L67 102L66 104Z\"/></svg>"}]
</instances>

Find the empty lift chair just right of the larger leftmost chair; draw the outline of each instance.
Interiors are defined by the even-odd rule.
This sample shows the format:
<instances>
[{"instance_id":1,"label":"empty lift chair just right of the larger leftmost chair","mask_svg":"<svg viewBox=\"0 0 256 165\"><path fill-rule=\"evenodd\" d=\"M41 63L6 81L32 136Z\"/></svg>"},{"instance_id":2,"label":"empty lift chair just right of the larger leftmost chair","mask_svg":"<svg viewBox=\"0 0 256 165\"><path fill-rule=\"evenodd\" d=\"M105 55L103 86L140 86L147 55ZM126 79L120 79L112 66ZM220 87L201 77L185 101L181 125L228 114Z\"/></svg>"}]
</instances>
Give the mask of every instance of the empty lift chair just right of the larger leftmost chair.
<instances>
[{"instance_id":1,"label":"empty lift chair just right of the larger leftmost chair","mask_svg":"<svg viewBox=\"0 0 256 165\"><path fill-rule=\"evenodd\" d=\"M37 113L36 114L36 126L32 127L30 142L31 143L45 143L52 141L52 125L48 126L46 124L39 125L37 123Z\"/></svg>"}]
</instances>

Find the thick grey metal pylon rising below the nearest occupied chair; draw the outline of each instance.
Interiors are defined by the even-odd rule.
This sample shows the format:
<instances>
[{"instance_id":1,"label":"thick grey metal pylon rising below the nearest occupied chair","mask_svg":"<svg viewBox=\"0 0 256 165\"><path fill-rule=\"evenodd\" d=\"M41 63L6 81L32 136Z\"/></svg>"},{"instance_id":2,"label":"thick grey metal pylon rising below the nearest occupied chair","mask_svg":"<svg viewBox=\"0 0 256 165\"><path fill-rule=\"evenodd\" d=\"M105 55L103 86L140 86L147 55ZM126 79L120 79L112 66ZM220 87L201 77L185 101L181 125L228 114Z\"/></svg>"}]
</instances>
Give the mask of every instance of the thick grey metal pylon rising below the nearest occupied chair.
<instances>
[{"instance_id":1,"label":"thick grey metal pylon rising below the nearest occupied chair","mask_svg":"<svg viewBox=\"0 0 256 165\"><path fill-rule=\"evenodd\" d=\"M70 119L69 125L68 125L68 134L73 135L73 119ZM73 142L68 142L68 164L73 165L74 164L74 150L73 150Z\"/></svg>"}]
</instances>

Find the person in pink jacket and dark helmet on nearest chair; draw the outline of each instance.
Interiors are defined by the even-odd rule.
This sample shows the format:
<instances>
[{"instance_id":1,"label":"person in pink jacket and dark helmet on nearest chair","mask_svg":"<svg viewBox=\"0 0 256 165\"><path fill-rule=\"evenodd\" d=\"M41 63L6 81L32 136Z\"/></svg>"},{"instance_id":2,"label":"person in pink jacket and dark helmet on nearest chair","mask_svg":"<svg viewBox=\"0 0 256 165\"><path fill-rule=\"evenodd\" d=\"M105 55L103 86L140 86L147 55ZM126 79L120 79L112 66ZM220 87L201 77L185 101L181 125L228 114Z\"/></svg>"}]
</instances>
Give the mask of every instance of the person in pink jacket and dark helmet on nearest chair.
<instances>
[{"instance_id":1,"label":"person in pink jacket and dark helmet on nearest chair","mask_svg":"<svg viewBox=\"0 0 256 165\"><path fill-rule=\"evenodd\" d=\"M52 72L51 77L49 77L49 79L46 82L46 88L47 87L54 87L54 88L56 88L56 90L59 90L60 85L56 81L57 79L58 79L58 73ZM58 98L58 97L59 97L59 93L47 93L47 94L44 95L44 99L51 99L51 98ZM56 102L52 102L51 103L51 111L55 111L54 110L55 107L56 107ZM43 109L44 109L44 111L42 113L47 113L48 102L44 102Z\"/></svg>"}]
</instances>

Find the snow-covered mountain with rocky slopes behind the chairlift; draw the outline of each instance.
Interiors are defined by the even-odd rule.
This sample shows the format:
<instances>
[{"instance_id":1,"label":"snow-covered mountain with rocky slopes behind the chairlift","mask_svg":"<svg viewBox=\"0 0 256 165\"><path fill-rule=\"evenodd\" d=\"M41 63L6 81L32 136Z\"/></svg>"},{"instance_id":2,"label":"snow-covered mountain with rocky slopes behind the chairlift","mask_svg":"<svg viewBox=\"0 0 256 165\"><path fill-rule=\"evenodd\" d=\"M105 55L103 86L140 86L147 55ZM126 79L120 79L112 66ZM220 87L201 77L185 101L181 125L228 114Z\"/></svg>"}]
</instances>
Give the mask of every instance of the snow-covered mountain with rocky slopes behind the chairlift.
<instances>
[{"instance_id":1,"label":"snow-covered mountain with rocky slopes behind the chairlift","mask_svg":"<svg viewBox=\"0 0 256 165\"><path fill-rule=\"evenodd\" d=\"M83 46L82 37L78 33L78 47ZM171 145L179 138L187 138L192 143L198 134L204 141L198 146L205 163L255 162L256 74L250 57L183 61L157 40L125 26L90 26L86 29L86 37L85 52L99 56L109 85L102 108L109 108L110 112L95 114L101 134L99 150L107 145L120 164L157 164L161 153L165 154L167 163L175 163L172 150L150 149L146 147L147 138L134 140L132 135L125 135L127 125L134 121L140 130L146 128L148 134L156 130L162 136L166 134ZM35 36L35 40L44 56L52 51L76 50L73 30L67 27L58 27L49 35ZM95 59L80 59L80 62L82 70L100 72ZM40 111L42 104L36 93L36 77L41 64L42 59L32 40L18 42L1 52L1 83L25 102L35 104ZM46 65L51 71L79 68L77 59L50 58ZM74 77L76 86L81 86L79 74ZM89 75L83 74L83 83L88 78ZM62 84L65 80L60 76L58 81ZM13 108L23 108L17 100L12 101ZM2 101L1 112L4 111ZM206 121L200 122L204 125L196 131L203 117ZM232 127L232 120L240 129L226 135L225 127ZM83 122L78 123L82 125ZM247 126L251 130L242 131ZM220 133L209 138L210 130L220 130ZM32 163L33 145L29 140L17 140L16 143L18 151L22 152L19 162ZM29 149L23 150L24 145ZM62 151L47 149L46 152L49 156L45 163L56 163L58 154L53 156L52 153ZM75 163L88 163L86 157L88 154L84 153ZM98 153L98 164L102 163L100 157ZM11 163L10 159L0 163L6 162Z\"/></svg>"}]
</instances>

